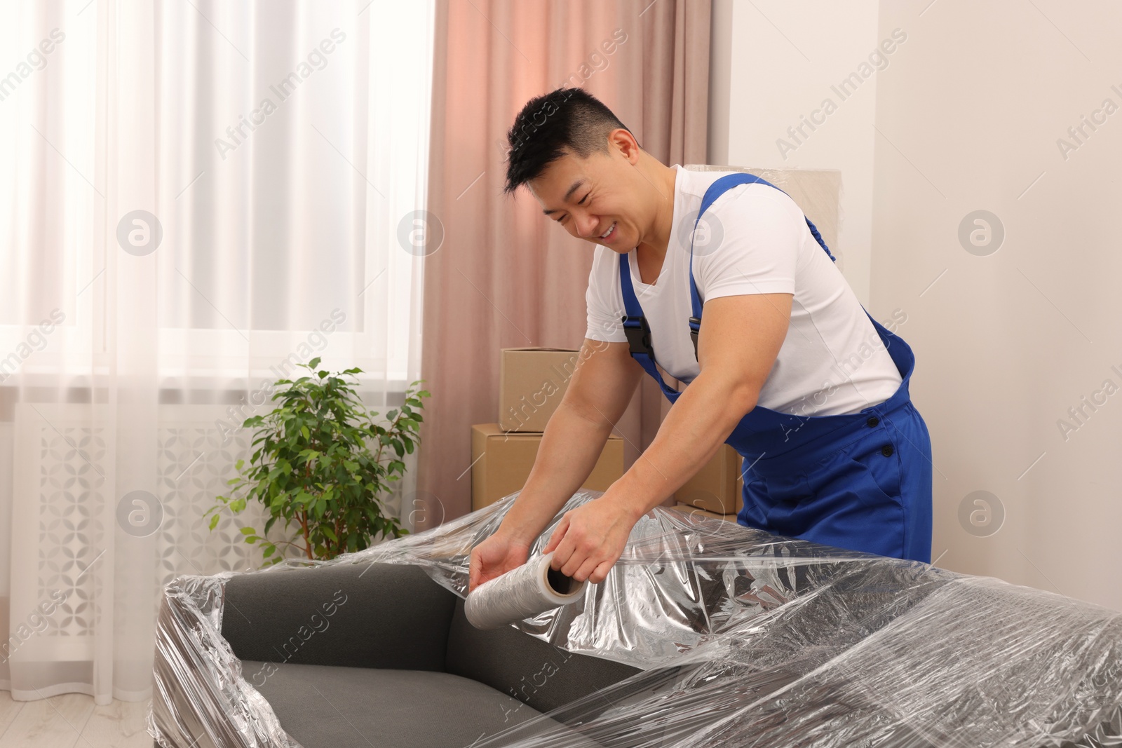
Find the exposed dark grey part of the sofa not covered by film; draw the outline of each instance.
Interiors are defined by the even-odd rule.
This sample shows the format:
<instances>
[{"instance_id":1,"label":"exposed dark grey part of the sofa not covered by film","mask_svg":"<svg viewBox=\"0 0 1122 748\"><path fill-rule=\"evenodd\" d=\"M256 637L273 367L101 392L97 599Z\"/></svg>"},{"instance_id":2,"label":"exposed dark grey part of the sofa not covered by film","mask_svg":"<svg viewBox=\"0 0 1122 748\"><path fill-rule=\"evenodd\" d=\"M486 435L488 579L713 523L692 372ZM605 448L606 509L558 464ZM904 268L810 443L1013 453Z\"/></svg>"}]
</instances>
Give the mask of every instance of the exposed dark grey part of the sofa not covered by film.
<instances>
[{"instance_id":1,"label":"exposed dark grey part of the sofa not covered by film","mask_svg":"<svg viewBox=\"0 0 1122 748\"><path fill-rule=\"evenodd\" d=\"M476 629L420 566L234 576L224 604L242 675L304 748L460 748L640 672Z\"/></svg>"}]
</instances>

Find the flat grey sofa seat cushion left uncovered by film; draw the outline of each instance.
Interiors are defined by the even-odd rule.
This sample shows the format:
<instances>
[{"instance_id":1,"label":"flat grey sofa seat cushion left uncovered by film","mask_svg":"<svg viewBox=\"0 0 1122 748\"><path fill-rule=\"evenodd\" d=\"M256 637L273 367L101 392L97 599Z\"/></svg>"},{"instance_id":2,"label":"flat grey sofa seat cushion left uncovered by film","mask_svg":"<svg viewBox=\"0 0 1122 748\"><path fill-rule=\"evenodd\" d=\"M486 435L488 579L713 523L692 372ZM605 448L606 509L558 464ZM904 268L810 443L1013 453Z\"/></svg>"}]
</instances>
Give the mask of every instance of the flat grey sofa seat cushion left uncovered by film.
<instances>
[{"instance_id":1,"label":"flat grey sofa seat cushion left uncovered by film","mask_svg":"<svg viewBox=\"0 0 1122 748\"><path fill-rule=\"evenodd\" d=\"M449 673L258 662L242 672L304 748L461 748L540 715Z\"/></svg>"}]
</instances>

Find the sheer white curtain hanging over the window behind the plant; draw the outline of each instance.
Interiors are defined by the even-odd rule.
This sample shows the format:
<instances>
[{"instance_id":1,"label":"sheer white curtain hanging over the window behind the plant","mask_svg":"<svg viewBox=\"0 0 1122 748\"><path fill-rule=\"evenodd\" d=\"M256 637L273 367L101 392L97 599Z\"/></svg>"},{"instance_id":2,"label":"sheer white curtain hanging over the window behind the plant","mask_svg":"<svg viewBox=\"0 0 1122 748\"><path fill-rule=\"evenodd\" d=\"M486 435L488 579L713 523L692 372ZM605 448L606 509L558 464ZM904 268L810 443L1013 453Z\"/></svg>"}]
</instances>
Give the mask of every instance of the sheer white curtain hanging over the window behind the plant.
<instances>
[{"instance_id":1,"label":"sheer white curtain hanging over the window behind the plant","mask_svg":"<svg viewBox=\"0 0 1122 748\"><path fill-rule=\"evenodd\" d=\"M263 387L420 369L431 2L0 10L0 681L150 694L178 574L260 563L202 512ZM407 244L406 244L407 246ZM394 497L410 523L411 481ZM404 498L403 498L404 497ZM258 524L258 529L260 524Z\"/></svg>"}]
</instances>

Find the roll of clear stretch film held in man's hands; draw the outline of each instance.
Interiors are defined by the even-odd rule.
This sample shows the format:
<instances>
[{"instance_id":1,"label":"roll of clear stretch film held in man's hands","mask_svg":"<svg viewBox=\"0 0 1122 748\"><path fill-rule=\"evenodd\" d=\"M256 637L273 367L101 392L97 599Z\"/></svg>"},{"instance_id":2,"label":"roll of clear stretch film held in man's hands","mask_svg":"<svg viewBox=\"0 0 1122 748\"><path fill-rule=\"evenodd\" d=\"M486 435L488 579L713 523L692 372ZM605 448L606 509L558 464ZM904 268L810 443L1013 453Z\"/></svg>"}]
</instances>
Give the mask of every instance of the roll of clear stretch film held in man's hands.
<instances>
[{"instance_id":1,"label":"roll of clear stretch film held in man's hands","mask_svg":"<svg viewBox=\"0 0 1122 748\"><path fill-rule=\"evenodd\" d=\"M552 558L552 553L533 557L477 587L463 601L468 621L476 628L498 628L579 600L585 583L550 569Z\"/></svg>"}]
</instances>

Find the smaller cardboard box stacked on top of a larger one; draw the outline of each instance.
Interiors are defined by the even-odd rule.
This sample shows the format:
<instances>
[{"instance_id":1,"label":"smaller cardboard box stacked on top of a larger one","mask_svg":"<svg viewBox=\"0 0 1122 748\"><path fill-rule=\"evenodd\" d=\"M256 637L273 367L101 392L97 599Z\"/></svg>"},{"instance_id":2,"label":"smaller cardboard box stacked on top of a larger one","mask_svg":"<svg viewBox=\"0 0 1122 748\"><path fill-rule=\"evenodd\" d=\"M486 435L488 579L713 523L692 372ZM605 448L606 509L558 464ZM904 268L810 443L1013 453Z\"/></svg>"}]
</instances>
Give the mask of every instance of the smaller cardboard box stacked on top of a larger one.
<instances>
[{"instance_id":1,"label":"smaller cardboard box stacked on top of a larger one","mask_svg":"<svg viewBox=\"0 0 1122 748\"><path fill-rule=\"evenodd\" d=\"M563 348L504 348L498 369L498 425L503 431L545 431L579 355L580 351Z\"/></svg>"}]
</instances>

